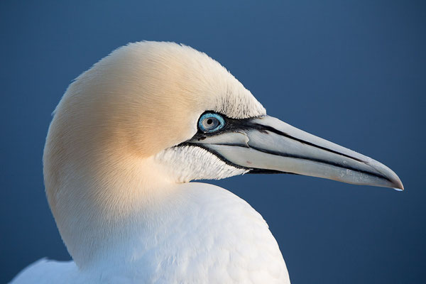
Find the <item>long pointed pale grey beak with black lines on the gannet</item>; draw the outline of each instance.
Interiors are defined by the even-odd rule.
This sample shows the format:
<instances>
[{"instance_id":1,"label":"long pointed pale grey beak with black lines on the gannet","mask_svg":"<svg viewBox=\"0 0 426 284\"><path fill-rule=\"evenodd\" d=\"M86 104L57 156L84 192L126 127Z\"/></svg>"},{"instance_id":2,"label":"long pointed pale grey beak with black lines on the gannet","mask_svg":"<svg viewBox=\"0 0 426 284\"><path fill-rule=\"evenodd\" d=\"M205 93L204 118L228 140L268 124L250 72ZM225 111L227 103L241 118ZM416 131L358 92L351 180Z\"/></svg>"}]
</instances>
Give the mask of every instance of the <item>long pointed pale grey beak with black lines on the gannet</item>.
<instances>
[{"instance_id":1,"label":"long pointed pale grey beak with black lines on the gannet","mask_svg":"<svg viewBox=\"0 0 426 284\"><path fill-rule=\"evenodd\" d=\"M279 119L227 119L218 133L197 133L199 146L251 173L295 173L403 190L398 175L378 161L301 131Z\"/></svg>"}]
</instances>

